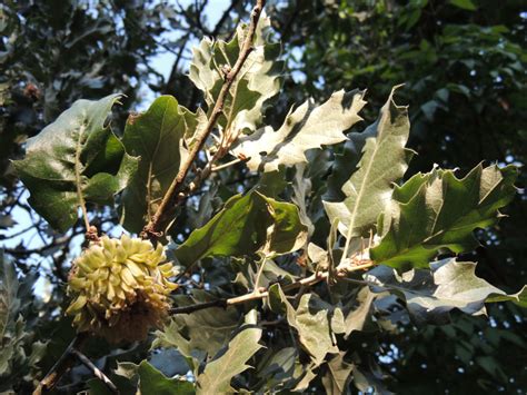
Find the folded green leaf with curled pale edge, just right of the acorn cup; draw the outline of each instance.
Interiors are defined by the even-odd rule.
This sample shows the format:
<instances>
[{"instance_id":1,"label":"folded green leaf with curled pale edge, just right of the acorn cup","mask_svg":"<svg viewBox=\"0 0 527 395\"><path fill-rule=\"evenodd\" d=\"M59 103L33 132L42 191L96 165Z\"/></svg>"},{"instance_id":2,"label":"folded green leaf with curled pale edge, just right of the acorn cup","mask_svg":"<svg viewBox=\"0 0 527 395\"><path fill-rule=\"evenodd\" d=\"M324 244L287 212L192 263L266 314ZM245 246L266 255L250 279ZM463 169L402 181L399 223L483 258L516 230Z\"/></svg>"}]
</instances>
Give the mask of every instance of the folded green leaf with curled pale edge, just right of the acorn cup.
<instances>
[{"instance_id":1,"label":"folded green leaf with curled pale edge, just right of the acorn cup","mask_svg":"<svg viewBox=\"0 0 527 395\"><path fill-rule=\"evenodd\" d=\"M261 250L287 254L305 244L307 227L298 207L252 190L231 197L203 227L196 229L175 255L189 266L210 256L242 256Z\"/></svg>"}]
</instances>

